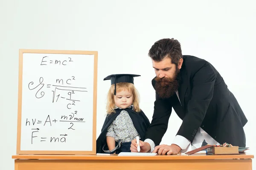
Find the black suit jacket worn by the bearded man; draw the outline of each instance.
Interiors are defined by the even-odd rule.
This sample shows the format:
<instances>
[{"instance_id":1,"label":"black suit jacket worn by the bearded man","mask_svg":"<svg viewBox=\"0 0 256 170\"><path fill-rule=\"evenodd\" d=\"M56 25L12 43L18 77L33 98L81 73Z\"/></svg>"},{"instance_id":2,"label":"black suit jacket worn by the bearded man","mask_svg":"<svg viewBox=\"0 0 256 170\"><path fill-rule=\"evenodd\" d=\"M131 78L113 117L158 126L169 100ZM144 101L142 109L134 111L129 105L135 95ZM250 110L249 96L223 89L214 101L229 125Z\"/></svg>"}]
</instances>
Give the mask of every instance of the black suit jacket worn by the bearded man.
<instances>
[{"instance_id":1,"label":"black suit jacket worn by the bearded man","mask_svg":"<svg viewBox=\"0 0 256 170\"><path fill-rule=\"evenodd\" d=\"M243 127L247 119L218 71L204 59L183 56L180 77L180 101L176 94L168 99L160 99L156 94L154 114L145 139L160 144L174 108L183 120L177 135L192 142L201 127L220 144L227 142L245 147ZM155 85L154 79L152 85Z\"/></svg>"}]
</instances>

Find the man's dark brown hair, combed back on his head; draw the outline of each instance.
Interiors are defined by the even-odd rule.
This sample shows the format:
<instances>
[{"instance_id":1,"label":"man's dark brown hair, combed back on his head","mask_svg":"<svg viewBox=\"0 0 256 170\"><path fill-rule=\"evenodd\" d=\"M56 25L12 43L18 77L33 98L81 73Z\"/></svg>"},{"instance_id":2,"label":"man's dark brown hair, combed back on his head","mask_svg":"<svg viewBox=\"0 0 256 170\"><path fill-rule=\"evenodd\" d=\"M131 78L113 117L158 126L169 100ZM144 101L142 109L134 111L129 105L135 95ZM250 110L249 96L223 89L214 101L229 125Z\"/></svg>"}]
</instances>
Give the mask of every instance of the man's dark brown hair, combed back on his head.
<instances>
[{"instance_id":1,"label":"man's dark brown hair, combed back on his head","mask_svg":"<svg viewBox=\"0 0 256 170\"><path fill-rule=\"evenodd\" d=\"M173 38L165 38L155 42L150 48L148 56L157 62L162 61L165 57L169 57L175 65L178 65L179 60L183 58L180 42Z\"/></svg>"}]
</instances>

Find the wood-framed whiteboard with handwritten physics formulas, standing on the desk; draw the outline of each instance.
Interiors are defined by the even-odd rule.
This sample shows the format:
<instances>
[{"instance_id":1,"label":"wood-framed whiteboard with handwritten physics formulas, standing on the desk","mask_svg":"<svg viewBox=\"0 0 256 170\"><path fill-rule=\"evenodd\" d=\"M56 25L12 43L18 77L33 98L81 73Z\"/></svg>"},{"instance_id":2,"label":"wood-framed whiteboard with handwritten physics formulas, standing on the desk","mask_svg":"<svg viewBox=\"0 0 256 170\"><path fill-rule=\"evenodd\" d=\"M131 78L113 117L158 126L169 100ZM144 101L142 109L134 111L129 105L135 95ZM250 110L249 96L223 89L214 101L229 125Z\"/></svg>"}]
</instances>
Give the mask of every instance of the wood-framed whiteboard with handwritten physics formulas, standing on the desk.
<instances>
[{"instance_id":1,"label":"wood-framed whiteboard with handwritten physics formulas, standing on the desk","mask_svg":"<svg viewBox=\"0 0 256 170\"><path fill-rule=\"evenodd\" d=\"M17 154L95 154L97 53L20 51Z\"/></svg>"}]
</instances>

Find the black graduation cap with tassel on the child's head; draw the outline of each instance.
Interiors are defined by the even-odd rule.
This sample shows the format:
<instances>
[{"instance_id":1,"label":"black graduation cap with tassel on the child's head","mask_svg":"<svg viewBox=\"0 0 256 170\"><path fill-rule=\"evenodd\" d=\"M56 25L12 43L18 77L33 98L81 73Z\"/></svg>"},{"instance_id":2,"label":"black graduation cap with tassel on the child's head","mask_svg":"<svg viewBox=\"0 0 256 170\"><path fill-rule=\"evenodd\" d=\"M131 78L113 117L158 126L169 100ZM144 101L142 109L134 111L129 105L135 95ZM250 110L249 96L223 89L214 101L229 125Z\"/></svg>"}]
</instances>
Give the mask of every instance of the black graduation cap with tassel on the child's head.
<instances>
[{"instance_id":1,"label":"black graduation cap with tassel on the child's head","mask_svg":"<svg viewBox=\"0 0 256 170\"><path fill-rule=\"evenodd\" d=\"M134 77L139 77L140 75L136 74L111 74L108 77L105 77L103 80L111 80L111 85L115 84L114 95L116 95L116 83L119 82L129 82L134 84Z\"/></svg>"}]
</instances>

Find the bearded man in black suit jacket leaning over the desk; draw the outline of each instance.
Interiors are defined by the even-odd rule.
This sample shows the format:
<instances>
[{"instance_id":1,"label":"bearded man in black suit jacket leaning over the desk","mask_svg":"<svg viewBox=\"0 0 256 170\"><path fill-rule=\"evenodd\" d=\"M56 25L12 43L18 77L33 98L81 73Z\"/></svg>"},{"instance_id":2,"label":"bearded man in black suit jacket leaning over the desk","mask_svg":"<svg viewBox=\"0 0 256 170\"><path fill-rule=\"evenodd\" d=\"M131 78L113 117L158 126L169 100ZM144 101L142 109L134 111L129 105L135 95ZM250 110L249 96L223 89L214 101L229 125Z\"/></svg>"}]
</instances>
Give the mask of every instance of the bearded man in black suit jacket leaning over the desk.
<instances>
[{"instance_id":1,"label":"bearded man in black suit jacket leaning over the desk","mask_svg":"<svg viewBox=\"0 0 256 170\"><path fill-rule=\"evenodd\" d=\"M224 142L245 147L243 128L247 118L224 79L209 62L182 55L180 43L174 39L158 40L148 56L156 73L152 79L156 100L145 141L140 141L140 152L169 155ZM171 145L159 145L172 108L182 124ZM136 139L131 143L131 152L137 152Z\"/></svg>"}]
</instances>

